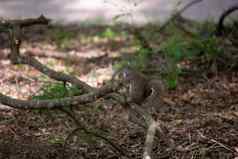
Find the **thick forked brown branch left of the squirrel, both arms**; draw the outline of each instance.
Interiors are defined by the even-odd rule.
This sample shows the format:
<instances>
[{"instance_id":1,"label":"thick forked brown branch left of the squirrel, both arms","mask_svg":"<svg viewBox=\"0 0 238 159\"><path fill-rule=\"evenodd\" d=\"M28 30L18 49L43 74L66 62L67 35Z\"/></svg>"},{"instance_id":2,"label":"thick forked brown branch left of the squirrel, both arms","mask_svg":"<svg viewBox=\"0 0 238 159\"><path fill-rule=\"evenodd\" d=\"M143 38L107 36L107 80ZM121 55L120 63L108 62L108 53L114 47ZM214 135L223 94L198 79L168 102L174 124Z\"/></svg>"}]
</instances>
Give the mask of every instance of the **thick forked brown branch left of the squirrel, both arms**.
<instances>
[{"instance_id":1,"label":"thick forked brown branch left of the squirrel, both arms","mask_svg":"<svg viewBox=\"0 0 238 159\"><path fill-rule=\"evenodd\" d=\"M60 108L67 105L78 105L90 103L98 98L111 93L114 88L111 83L105 85L100 89L93 88L87 83L77 79L74 76L70 76L64 73L56 72L47 66L41 64L38 60L27 55L20 54L20 45L22 40L22 27L27 27L35 24L48 24L49 20L44 16L40 16L37 19L25 19L25 20L11 20L1 21L0 27L9 27L9 37L11 44L10 60L13 64L27 64L43 74L49 76L52 79L62 82L69 82L73 85L81 87L86 94L75 97L67 97L55 100L19 100L10 96L0 93L0 103L8 105L18 109L38 109L38 108Z\"/></svg>"}]
</instances>

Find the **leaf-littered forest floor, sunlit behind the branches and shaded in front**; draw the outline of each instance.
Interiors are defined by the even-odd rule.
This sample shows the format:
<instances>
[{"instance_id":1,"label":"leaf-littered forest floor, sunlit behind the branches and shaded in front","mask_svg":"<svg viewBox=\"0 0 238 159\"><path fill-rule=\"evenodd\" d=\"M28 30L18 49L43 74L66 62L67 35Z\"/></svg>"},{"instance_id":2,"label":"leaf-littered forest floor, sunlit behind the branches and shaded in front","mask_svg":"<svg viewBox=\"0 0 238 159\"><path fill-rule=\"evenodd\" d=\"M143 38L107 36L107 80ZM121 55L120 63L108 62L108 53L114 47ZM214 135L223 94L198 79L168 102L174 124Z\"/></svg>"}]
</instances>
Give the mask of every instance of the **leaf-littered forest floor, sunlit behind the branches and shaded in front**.
<instances>
[{"instance_id":1,"label":"leaf-littered forest floor, sunlit behind the branches and shaded in front","mask_svg":"<svg viewBox=\"0 0 238 159\"><path fill-rule=\"evenodd\" d=\"M32 56L51 68L100 87L110 80L113 66L122 56L133 55L133 40L124 35L114 37L111 29L104 26L36 27L26 30L27 41L21 51L31 51ZM0 41L1 92L30 99L45 83L54 82L28 66L11 65L7 37L2 34ZM158 138L154 159L238 158L238 73L218 71L206 78L202 74L191 72L179 77L176 89L163 97L166 109L157 116L183 151L169 150L168 139ZM80 121L108 136L130 158L142 158L146 131L128 122L124 107L100 99L74 111ZM0 105L0 158L123 158L109 144L89 134L69 136L75 128L74 122L59 110L16 110Z\"/></svg>"}]
</instances>

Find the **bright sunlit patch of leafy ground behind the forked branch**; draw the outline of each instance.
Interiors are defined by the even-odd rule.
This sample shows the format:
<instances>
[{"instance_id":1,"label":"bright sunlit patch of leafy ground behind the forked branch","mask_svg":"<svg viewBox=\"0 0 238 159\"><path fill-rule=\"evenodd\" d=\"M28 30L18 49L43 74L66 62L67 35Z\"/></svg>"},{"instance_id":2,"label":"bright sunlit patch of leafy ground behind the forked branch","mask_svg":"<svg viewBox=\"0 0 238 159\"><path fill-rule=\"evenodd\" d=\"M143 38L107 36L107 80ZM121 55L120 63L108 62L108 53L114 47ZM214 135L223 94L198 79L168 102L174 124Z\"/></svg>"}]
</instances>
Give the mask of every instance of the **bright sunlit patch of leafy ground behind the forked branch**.
<instances>
[{"instance_id":1,"label":"bright sunlit patch of leafy ground behind the forked branch","mask_svg":"<svg viewBox=\"0 0 238 159\"><path fill-rule=\"evenodd\" d=\"M25 33L20 49L22 54L36 56L50 68L75 75L94 87L111 79L112 65L122 53L133 52L132 37L121 34L117 27L64 26L58 29L55 26L50 30L35 27ZM12 66L7 59L10 53L8 38L0 38L3 41L0 91L15 98L28 99L49 79L28 66Z\"/></svg>"}]
</instances>

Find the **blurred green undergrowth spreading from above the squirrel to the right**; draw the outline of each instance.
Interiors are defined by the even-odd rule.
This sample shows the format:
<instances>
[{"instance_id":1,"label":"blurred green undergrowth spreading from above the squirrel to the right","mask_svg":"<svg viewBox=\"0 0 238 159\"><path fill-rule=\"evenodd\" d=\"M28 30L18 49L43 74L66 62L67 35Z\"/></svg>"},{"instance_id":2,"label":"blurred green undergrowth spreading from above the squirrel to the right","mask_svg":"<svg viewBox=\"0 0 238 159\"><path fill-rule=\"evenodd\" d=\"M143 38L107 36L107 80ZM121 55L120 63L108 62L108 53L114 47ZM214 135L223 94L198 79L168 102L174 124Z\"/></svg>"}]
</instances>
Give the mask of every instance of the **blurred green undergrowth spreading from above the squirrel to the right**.
<instances>
[{"instance_id":1,"label":"blurred green undergrowth spreading from above the squirrel to the right","mask_svg":"<svg viewBox=\"0 0 238 159\"><path fill-rule=\"evenodd\" d=\"M153 30L153 29L152 29ZM138 39L135 39L135 46L137 51L129 59L122 60L116 65L116 68L130 66L139 71L148 69L147 64L155 54L161 54L166 61L166 70L162 72L165 81L170 89L175 89L178 83L179 76L183 74L183 69L180 63L194 58L200 58L207 63L215 61L220 55L223 54L221 47L221 39L214 35L215 24L205 22L198 25L198 32L189 36L183 31L179 30L175 25L170 25L165 32L169 32L169 36L161 40L159 50L151 51L150 48L144 48ZM146 30L146 37L157 33L156 30ZM149 36L148 36L149 35ZM150 38L150 37L149 37ZM150 39L148 42L150 43ZM153 41L152 41L153 42ZM154 66L160 67L160 66Z\"/></svg>"}]
</instances>

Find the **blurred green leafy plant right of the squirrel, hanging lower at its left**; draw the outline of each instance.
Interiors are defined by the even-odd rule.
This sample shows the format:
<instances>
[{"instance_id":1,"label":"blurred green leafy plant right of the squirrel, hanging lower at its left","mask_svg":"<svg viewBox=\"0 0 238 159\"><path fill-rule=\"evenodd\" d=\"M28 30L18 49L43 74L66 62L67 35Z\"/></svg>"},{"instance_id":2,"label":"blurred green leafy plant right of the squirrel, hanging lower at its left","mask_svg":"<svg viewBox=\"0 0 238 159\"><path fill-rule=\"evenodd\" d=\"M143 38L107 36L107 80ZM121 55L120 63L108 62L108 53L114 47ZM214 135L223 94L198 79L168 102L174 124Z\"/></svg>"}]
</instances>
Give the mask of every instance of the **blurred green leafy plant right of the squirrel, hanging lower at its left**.
<instances>
[{"instance_id":1,"label":"blurred green leafy plant right of the squirrel, hanging lower at its left","mask_svg":"<svg viewBox=\"0 0 238 159\"><path fill-rule=\"evenodd\" d=\"M223 50L220 47L220 39L212 35L212 24L204 24L203 31L192 38L175 34L161 44L161 50L167 58L167 71L164 78L169 88L175 88L182 70L178 64L183 60L190 60L194 57L205 58L207 62L215 60Z\"/></svg>"}]
</instances>

